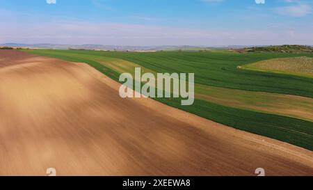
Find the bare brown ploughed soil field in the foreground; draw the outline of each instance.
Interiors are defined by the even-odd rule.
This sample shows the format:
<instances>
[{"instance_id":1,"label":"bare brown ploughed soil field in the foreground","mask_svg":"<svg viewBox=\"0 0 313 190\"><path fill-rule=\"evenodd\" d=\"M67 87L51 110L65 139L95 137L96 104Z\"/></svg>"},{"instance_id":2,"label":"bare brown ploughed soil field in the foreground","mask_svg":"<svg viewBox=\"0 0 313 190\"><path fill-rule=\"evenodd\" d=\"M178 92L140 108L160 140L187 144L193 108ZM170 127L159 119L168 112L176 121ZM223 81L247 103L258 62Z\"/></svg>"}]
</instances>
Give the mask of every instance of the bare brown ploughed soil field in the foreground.
<instances>
[{"instance_id":1,"label":"bare brown ploughed soil field in the foreground","mask_svg":"<svg viewBox=\"0 0 313 190\"><path fill-rule=\"evenodd\" d=\"M313 152L157 101L84 63L0 51L0 175L313 175Z\"/></svg>"}]
</instances>

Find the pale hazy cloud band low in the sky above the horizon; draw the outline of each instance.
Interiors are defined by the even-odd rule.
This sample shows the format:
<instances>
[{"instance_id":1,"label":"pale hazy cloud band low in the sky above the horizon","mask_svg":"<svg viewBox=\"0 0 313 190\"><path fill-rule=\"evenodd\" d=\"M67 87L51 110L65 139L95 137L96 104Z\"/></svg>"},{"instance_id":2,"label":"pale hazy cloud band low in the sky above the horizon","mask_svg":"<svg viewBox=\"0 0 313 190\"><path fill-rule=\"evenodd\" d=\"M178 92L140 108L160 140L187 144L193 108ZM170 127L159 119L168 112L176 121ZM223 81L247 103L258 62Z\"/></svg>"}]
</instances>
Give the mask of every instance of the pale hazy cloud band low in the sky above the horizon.
<instances>
[{"instance_id":1,"label":"pale hazy cloud band low in the sky above the horizon","mask_svg":"<svg viewBox=\"0 0 313 190\"><path fill-rule=\"evenodd\" d=\"M47 22L1 23L0 42L102 45L310 44L310 29L211 30L140 24ZM20 31L23 31L21 33Z\"/></svg>"}]
</instances>

